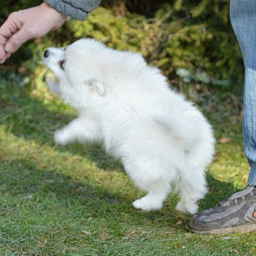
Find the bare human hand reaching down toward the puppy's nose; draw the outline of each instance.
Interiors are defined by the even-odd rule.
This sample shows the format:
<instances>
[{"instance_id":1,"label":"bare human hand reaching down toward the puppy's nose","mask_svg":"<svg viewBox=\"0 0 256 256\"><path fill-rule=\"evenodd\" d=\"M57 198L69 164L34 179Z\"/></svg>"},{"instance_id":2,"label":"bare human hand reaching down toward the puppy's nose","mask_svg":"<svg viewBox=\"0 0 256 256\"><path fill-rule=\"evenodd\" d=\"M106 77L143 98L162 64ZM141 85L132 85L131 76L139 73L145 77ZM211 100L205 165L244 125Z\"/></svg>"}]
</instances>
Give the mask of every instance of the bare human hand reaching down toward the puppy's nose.
<instances>
[{"instance_id":1,"label":"bare human hand reaching down toward the puppy's nose","mask_svg":"<svg viewBox=\"0 0 256 256\"><path fill-rule=\"evenodd\" d=\"M17 51L22 44L40 38L56 30L65 22L67 15L43 3L38 7L12 12L0 27L0 64Z\"/></svg>"}]
</instances>

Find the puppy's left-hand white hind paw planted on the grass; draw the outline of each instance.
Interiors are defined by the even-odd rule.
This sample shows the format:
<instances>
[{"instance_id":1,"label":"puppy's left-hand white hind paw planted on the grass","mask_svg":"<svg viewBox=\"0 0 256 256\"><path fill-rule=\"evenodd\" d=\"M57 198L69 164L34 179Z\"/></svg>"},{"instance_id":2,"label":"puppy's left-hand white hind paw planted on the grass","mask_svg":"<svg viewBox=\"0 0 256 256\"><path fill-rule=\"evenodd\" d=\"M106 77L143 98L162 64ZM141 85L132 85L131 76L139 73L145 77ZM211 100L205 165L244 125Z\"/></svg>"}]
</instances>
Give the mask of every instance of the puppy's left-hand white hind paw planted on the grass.
<instances>
[{"instance_id":1,"label":"puppy's left-hand white hind paw planted on the grass","mask_svg":"<svg viewBox=\"0 0 256 256\"><path fill-rule=\"evenodd\" d=\"M133 202L133 207L136 209L144 210L145 212L149 212L150 210L159 210L162 208L162 202L157 200L156 198L149 197L148 195L142 197L141 199L137 199Z\"/></svg>"}]
</instances>

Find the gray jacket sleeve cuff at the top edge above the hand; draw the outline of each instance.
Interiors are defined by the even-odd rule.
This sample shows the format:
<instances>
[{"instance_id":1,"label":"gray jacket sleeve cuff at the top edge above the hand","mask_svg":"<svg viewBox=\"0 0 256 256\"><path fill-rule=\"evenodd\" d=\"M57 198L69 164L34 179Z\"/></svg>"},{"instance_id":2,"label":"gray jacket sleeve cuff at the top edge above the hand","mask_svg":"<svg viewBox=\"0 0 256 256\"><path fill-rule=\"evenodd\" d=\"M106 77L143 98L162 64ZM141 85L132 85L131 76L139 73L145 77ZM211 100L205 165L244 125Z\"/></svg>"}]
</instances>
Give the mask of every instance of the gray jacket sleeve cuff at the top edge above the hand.
<instances>
[{"instance_id":1,"label":"gray jacket sleeve cuff at the top edge above the hand","mask_svg":"<svg viewBox=\"0 0 256 256\"><path fill-rule=\"evenodd\" d=\"M86 20L101 0L44 0L50 7L75 20Z\"/></svg>"}]
</instances>

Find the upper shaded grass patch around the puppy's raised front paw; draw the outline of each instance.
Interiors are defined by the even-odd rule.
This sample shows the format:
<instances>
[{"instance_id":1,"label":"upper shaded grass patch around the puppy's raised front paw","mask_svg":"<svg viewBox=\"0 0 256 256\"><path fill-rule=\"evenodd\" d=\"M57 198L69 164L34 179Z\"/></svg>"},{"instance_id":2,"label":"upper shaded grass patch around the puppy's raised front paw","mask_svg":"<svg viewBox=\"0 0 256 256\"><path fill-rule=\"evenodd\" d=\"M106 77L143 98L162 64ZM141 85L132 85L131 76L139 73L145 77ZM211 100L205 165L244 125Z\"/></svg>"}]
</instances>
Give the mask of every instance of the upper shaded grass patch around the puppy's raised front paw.
<instances>
[{"instance_id":1,"label":"upper shaded grass patch around the puppy's raised front paw","mask_svg":"<svg viewBox=\"0 0 256 256\"><path fill-rule=\"evenodd\" d=\"M0 87L1 92L1 87ZM12 92L10 92L12 94ZM0 125L21 139L36 141L39 145L54 143L54 131L67 125L75 115L65 115L60 111L47 109L43 102L30 98L24 90L13 94L11 101L0 98ZM104 152L102 146L70 144L57 146L59 152L79 154L105 170L122 169L122 165Z\"/></svg>"}]
</instances>

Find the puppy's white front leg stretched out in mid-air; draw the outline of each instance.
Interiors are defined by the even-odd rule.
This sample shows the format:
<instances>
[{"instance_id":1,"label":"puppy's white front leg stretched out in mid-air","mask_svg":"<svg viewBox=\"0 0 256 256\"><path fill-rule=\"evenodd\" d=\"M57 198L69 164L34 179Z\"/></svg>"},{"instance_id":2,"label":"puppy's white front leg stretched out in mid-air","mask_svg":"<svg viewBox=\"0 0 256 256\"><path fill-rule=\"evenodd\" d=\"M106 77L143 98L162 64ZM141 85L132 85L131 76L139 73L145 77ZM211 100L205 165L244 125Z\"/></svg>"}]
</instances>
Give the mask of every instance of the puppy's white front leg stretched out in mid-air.
<instances>
[{"instance_id":1,"label":"puppy's white front leg stretched out in mid-air","mask_svg":"<svg viewBox=\"0 0 256 256\"><path fill-rule=\"evenodd\" d=\"M54 139L57 144L66 145L75 141L100 141L102 134L99 122L94 117L81 116L56 131Z\"/></svg>"}]
</instances>

